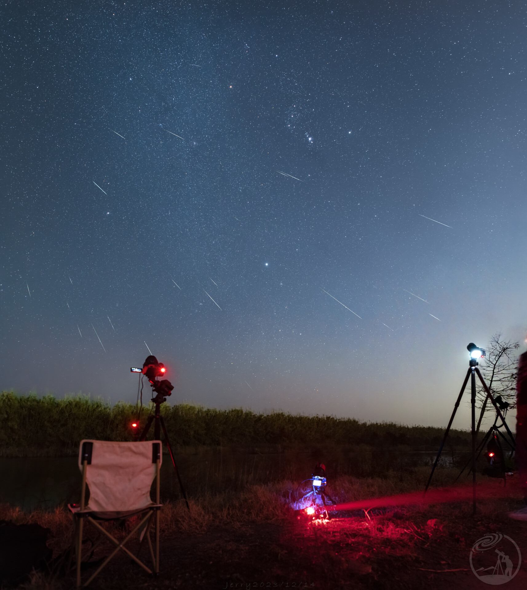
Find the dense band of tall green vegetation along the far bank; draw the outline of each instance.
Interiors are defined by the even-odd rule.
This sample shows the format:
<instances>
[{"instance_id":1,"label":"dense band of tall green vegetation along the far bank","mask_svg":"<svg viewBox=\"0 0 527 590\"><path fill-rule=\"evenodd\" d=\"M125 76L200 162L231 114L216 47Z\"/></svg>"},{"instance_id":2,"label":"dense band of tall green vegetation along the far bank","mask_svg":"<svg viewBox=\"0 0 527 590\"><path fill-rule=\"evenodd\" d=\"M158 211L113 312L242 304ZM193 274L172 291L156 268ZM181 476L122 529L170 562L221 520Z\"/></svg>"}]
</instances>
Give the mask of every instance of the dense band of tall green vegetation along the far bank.
<instances>
[{"instance_id":1,"label":"dense band of tall green vegetation along the far bank","mask_svg":"<svg viewBox=\"0 0 527 590\"><path fill-rule=\"evenodd\" d=\"M140 428L150 407L143 407ZM359 422L354 418L305 416L244 409L203 408L191 404L161 406L172 445L296 445L365 444L372 447L437 449L444 429L404 426L394 422ZM113 407L100 399L52 395L0 394L0 455L76 454L83 438L133 440L131 424L138 416L133 404ZM153 427L150 429L152 438ZM470 445L470 432L451 430L447 448Z\"/></svg>"}]
</instances>

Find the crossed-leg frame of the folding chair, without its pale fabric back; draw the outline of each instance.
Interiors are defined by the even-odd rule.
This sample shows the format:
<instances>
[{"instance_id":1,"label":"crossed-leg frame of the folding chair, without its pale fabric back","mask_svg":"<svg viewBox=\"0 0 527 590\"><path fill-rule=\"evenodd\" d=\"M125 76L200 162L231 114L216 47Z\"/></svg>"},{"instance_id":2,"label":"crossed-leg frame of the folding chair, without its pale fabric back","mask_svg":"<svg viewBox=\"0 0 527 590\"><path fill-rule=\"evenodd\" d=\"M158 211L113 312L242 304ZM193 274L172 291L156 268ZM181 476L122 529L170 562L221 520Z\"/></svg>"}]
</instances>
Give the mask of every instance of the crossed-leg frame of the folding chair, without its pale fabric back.
<instances>
[{"instance_id":1,"label":"crossed-leg frame of the folding chair, without its pale fabric back","mask_svg":"<svg viewBox=\"0 0 527 590\"><path fill-rule=\"evenodd\" d=\"M86 444L86 443L85 443ZM90 582L97 576L97 574L102 571L102 569L104 568L104 566L106 566L110 560L119 552L119 551L123 551L124 553L126 553L126 555L128 555L130 558L132 558L136 563L138 563L138 565L140 565L143 569L145 569L146 572L150 573L150 574L154 574L154 575L158 575L159 573L159 510L161 509L161 504L159 504L159 468L161 467L161 443L158 442L153 442L153 445L156 445L156 447L153 448L153 458L155 458L155 463L156 463L156 503L153 506L149 506L147 508L145 508L144 510L140 510L136 513L130 514L129 516L125 516L125 518L128 518L130 516L136 516L136 514L145 514L146 512L146 516L144 516L138 525L136 525L134 527L134 529L132 530L132 532L130 532L126 538L119 542L119 540L117 540L110 531L107 531L106 529L104 529L103 526L101 526L96 520L94 520L91 517L91 514L93 514L92 512L86 511L85 510L85 501L86 501L86 471L87 471L87 466L91 463L91 450L87 451L86 453L84 452L84 445L83 445L83 450L82 450L82 460L83 460L83 481L82 481L82 487L81 487L81 496L80 496L80 510L78 510L77 512L73 512L73 520L75 523L75 528L74 528L74 547L75 547L75 553L76 553L76 559L77 559L77 588L81 587L81 575L80 575L80 566L81 566L81 562L82 562L82 542L83 542L83 528L84 528L84 520L89 520L89 522L99 531L100 536L99 539L97 539L97 541L94 543L93 546L91 546L90 551L93 552L93 550L100 545L100 543L103 542L103 540L105 539L109 539L110 542L112 542L116 548L113 550L112 553L110 553L110 555L104 560L104 562L99 566L99 568L97 568L96 572L94 572L90 578L84 582L84 584L82 585L83 588L86 588L86 586L88 584L90 584ZM84 513L83 513L84 512ZM153 516L155 514L155 552L154 549L152 547L152 541L150 540L150 528L152 526L152 521L153 521ZM107 520L120 520L123 517L115 517L113 519L107 519ZM147 522L148 521L148 522ZM138 530L145 525L146 523L146 530L145 530L145 534L143 535L143 539L139 544L139 550L137 555L133 555L133 553L127 549L125 547L125 543L127 543L133 535L135 535L136 532L138 532ZM113 530L113 529L111 529ZM139 553L143 547L143 543L145 542L145 537L146 540L148 541L148 547L150 550L150 557L152 558L152 563L153 563L153 572L151 569L149 569L140 559L139 559Z\"/></svg>"}]
</instances>

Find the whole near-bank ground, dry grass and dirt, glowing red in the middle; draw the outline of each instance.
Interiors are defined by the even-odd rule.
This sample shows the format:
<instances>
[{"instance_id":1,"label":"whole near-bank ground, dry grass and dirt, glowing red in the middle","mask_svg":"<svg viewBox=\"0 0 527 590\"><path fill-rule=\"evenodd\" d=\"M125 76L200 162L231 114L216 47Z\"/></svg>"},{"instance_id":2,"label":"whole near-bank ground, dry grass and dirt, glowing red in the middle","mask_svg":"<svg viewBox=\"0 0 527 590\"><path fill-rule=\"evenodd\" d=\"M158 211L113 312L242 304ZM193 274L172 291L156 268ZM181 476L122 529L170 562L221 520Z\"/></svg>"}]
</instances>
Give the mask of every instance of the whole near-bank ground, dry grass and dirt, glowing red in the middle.
<instances>
[{"instance_id":1,"label":"whole near-bank ground, dry grass and dirt, glowing red in the middle","mask_svg":"<svg viewBox=\"0 0 527 590\"><path fill-rule=\"evenodd\" d=\"M475 516L470 501L448 503L446 494L444 503L391 506L368 515L356 510L335 513L329 520L308 520L287 506L277 507L278 496L257 486L227 503L222 500L216 505L210 499L200 506L191 502L191 513L183 503L167 504L159 577L151 578L125 555L118 555L90 588L471 590L486 586L474 575L469 556L474 543L489 533L503 533L516 542L522 563L506 587L527 588L527 522L508 517L510 510L522 505L519 489L513 481L506 488L499 481L483 481L478 493ZM55 556L67 547L71 521L66 510L34 514L10 510L4 507L0 517L40 522L51 529L48 545ZM101 558L107 549L94 558ZM493 549L489 553L493 557ZM148 558L146 548L142 557ZM83 572L83 579L90 571L93 568ZM32 590L73 587L71 574L35 574L20 586Z\"/></svg>"}]
</instances>

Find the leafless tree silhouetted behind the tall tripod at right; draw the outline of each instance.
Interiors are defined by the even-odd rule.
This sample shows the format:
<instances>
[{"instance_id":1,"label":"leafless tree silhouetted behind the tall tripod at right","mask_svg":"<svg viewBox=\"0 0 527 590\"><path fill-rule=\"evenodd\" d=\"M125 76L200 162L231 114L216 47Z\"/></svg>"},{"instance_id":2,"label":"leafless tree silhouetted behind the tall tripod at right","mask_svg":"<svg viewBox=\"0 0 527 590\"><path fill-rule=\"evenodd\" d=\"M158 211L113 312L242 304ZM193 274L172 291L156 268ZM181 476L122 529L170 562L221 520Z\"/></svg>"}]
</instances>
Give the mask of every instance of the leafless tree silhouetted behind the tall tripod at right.
<instances>
[{"instance_id":1,"label":"leafless tree silhouetted behind the tall tripod at right","mask_svg":"<svg viewBox=\"0 0 527 590\"><path fill-rule=\"evenodd\" d=\"M502 335L497 332L491 337L485 359L480 363L483 379L485 379L493 397L502 396L503 401L508 402L511 409L516 407L516 372L518 371L516 350L518 350L519 346L519 342L502 340ZM479 381L476 389L476 405L481 408L476 429L476 431L479 431L485 412L493 413L495 411Z\"/></svg>"}]
</instances>

